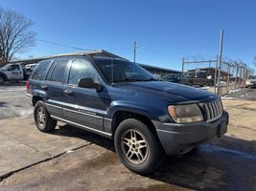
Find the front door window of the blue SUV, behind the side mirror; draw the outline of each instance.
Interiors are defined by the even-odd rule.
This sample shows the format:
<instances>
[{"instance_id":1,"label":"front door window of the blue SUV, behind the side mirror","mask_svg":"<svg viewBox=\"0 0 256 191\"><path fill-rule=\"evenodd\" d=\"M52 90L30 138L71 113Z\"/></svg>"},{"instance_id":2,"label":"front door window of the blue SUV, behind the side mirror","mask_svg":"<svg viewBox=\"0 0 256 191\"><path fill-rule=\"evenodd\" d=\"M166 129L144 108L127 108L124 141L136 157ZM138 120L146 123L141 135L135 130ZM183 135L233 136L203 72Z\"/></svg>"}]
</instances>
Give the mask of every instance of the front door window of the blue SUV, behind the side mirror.
<instances>
[{"instance_id":1,"label":"front door window of the blue SUV, behind the side mirror","mask_svg":"<svg viewBox=\"0 0 256 191\"><path fill-rule=\"evenodd\" d=\"M78 85L81 78L97 80L95 71L89 63L83 60L74 60L70 68L68 83Z\"/></svg>"}]
</instances>

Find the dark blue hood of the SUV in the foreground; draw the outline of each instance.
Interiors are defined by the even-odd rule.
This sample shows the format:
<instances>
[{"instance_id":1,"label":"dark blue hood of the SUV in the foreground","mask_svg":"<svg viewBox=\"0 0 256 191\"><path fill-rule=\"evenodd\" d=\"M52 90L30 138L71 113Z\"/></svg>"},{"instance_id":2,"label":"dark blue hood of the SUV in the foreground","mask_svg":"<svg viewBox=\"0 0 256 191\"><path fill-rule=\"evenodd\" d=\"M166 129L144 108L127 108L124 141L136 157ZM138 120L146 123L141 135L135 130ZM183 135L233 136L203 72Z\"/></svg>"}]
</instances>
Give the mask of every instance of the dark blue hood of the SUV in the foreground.
<instances>
[{"instance_id":1,"label":"dark blue hood of the SUV in the foreground","mask_svg":"<svg viewBox=\"0 0 256 191\"><path fill-rule=\"evenodd\" d=\"M219 97L198 88L166 81L131 82L119 85L119 88L135 96L158 96L174 103L204 102Z\"/></svg>"}]
</instances>

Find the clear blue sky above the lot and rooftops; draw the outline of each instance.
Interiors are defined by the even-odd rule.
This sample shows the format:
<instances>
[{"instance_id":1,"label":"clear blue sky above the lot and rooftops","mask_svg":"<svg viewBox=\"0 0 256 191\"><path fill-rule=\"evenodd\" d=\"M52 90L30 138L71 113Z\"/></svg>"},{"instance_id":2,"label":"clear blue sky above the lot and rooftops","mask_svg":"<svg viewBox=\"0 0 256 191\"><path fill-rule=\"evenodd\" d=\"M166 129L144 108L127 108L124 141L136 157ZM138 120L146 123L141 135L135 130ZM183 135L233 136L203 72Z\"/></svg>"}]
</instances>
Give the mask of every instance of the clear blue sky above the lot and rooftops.
<instances>
[{"instance_id":1,"label":"clear blue sky above the lot and rooftops","mask_svg":"<svg viewBox=\"0 0 256 191\"><path fill-rule=\"evenodd\" d=\"M223 54L252 67L256 55L256 1L234 0L0 0L0 6L31 18L37 38L81 49L105 49L133 60L181 69L181 57ZM78 50L38 41L29 53L41 56Z\"/></svg>"}]
</instances>

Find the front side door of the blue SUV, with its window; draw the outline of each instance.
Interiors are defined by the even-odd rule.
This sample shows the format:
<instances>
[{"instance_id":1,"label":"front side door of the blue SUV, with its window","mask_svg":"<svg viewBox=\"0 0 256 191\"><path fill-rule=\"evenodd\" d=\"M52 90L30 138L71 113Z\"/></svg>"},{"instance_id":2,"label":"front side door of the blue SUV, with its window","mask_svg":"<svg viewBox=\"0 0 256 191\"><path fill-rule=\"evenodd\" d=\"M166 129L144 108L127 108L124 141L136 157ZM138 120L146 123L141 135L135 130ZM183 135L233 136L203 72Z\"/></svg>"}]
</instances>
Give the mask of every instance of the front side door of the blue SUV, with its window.
<instances>
[{"instance_id":1,"label":"front side door of the blue SUV, with its window","mask_svg":"<svg viewBox=\"0 0 256 191\"><path fill-rule=\"evenodd\" d=\"M100 79L98 72L89 61L72 60L67 86L63 90L63 101L65 102L63 117L103 131L105 91L99 93L95 89L78 87L79 80L84 77L92 78L95 82Z\"/></svg>"}]
</instances>

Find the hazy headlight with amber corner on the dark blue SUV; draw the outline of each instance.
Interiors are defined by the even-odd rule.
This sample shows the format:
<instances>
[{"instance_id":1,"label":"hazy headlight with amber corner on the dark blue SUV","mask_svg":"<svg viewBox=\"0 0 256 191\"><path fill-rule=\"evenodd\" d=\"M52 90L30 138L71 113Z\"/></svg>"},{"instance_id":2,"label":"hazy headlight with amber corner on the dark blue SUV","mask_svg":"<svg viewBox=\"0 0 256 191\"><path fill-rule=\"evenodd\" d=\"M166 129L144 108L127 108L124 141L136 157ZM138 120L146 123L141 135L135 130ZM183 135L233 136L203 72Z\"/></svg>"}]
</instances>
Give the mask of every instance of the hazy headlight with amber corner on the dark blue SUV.
<instances>
[{"instance_id":1,"label":"hazy headlight with amber corner on the dark blue SUV","mask_svg":"<svg viewBox=\"0 0 256 191\"><path fill-rule=\"evenodd\" d=\"M177 123L198 122L203 120L197 104L170 105L168 112Z\"/></svg>"}]
</instances>

